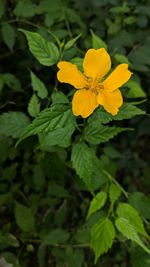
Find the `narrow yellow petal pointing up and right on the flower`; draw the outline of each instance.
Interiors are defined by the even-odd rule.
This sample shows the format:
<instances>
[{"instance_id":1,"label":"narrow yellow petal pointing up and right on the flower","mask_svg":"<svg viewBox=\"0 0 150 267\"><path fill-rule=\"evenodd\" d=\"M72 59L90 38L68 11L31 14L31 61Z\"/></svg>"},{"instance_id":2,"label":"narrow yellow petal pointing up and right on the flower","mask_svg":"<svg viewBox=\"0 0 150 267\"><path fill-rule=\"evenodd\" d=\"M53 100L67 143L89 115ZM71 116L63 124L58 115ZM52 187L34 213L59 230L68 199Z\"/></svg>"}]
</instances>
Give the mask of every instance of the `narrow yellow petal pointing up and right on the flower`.
<instances>
[{"instance_id":1,"label":"narrow yellow petal pointing up and right on the flower","mask_svg":"<svg viewBox=\"0 0 150 267\"><path fill-rule=\"evenodd\" d=\"M117 68L106 78L103 82L104 88L109 91L121 87L126 83L132 75L132 72L128 70L128 64L120 64Z\"/></svg>"}]
</instances>

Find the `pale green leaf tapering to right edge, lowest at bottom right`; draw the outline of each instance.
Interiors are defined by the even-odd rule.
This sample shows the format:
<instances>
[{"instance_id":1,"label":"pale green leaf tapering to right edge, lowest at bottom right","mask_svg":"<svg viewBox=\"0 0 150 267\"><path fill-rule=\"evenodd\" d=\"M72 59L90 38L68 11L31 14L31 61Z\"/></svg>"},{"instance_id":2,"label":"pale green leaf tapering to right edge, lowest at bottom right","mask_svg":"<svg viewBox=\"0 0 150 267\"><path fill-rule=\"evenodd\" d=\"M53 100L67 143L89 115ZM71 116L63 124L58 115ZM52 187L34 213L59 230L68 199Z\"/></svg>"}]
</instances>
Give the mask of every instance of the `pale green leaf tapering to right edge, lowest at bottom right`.
<instances>
[{"instance_id":1,"label":"pale green leaf tapering to right edge, lowest at bottom right","mask_svg":"<svg viewBox=\"0 0 150 267\"><path fill-rule=\"evenodd\" d=\"M115 225L120 233L122 233L127 239L130 239L137 243L140 247L142 247L147 253L150 254L150 250L144 245L142 240L137 234L134 226L129 222L128 219L125 218L117 218L115 221Z\"/></svg>"}]
</instances>

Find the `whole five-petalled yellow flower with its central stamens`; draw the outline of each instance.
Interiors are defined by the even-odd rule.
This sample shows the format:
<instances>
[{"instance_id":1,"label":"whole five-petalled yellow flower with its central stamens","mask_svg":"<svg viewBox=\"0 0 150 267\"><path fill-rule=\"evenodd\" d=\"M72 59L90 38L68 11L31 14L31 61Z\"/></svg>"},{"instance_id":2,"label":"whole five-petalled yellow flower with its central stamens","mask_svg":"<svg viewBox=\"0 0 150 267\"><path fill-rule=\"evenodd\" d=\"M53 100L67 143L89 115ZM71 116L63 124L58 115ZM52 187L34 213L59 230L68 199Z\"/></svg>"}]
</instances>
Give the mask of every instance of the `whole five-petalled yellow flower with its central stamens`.
<instances>
[{"instance_id":1,"label":"whole five-petalled yellow flower with its central stamens","mask_svg":"<svg viewBox=\"0 0 150 267\"><path fill-rule=\"evenodd\" d=\"M75 64L66 61L58 63L57 78L62 83L69 83L76 89L72 100L72 111L75 116L90 116L102 105L104 109L116 115L123 104L120 90L132 73L127 64L118 65L105 79L103 77L111 68L111 59L104 48L89 49L83 60L84 73Z\"/></svg>"}]
</instances>

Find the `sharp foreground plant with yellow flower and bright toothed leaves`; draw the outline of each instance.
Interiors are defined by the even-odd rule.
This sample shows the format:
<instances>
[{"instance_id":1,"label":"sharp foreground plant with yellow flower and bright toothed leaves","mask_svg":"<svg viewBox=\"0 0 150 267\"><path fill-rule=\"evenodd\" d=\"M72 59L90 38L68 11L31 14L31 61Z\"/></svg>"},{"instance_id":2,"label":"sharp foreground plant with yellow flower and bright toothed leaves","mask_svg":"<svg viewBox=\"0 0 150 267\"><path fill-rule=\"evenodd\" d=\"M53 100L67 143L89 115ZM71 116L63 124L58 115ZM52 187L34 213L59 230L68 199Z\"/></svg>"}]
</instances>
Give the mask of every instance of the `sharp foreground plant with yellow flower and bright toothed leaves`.
<instances>
[{"instance_id":1,"label":"sharp foreground plant with yellow flower and bright toothed leaves","mask_svg":"<svg viewBox=\"0 0 150 267\"><path fill-rule=\"evenodd\" d=\"M150 253L145 245L148 235L142 218L128 203L128 193L111 171L111 162L106 163L100 152L101 144L123 131L133 130L121 127L119 121L145 114L135 103L123 103L120 87L132 75L128 64L122 62L111 71L107 50L103 47L90 48L83 59L82 73L76 64L69 62L73 58L66 60L67 50L77 38L69 41L68 45L56 39L56 45L39 33L21 31L27 37L29 49L39 63L55 66L53 71L57 81L54 90L48 92L43 82L31 72L34 91L41 99L49 95L48 104L38 114L34 113L34 120L21 134L18 144L31 135L37 135L37 149L60 154L63 151L60 157L65 158L68 172L74 178L73 183L79 190L91 194L85 220L85 228L90 235L86 244L74 246L92 248L96 263L112 247L115 239L120 240L122 234ZM76 89L71 98L70 93L67 94L66 84ZM30 101L29 111L33 110L32 105L36 105L35 96ZM41 247L46 245L49 245L48 239L43 241Z\"/></svg>"}]
</instances>

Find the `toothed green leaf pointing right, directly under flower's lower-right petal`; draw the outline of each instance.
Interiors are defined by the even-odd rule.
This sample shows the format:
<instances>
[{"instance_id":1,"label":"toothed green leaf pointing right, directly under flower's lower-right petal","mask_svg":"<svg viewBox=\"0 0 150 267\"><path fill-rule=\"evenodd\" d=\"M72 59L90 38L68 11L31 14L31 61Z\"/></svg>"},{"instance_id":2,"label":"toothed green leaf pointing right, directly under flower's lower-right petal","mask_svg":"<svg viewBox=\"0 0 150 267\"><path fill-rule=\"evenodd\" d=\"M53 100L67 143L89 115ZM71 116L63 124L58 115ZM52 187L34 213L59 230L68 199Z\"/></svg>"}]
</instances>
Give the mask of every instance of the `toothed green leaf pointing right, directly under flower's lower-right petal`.
<instances>
[{"instance_id":1,"label":"toothed green leaf pointing right, directly under flower's lower-right petal","mask_svg":"<svg viewBox=\"0 0 150 267\"><path fill-rule=\"evenodd\" d=\"M108 123L113 120L124 120L131 119L136 115L144 115L145 111L140 108L137 108L131 103L124 103L120 108L117 115L113 116L110 113L106 112L103 107L98 108L88 119L89 124L93 121L96 123Z\"/></svg>"}]
</instances>

